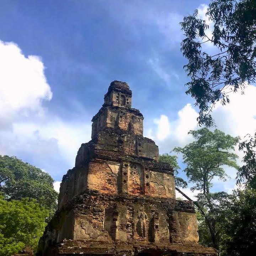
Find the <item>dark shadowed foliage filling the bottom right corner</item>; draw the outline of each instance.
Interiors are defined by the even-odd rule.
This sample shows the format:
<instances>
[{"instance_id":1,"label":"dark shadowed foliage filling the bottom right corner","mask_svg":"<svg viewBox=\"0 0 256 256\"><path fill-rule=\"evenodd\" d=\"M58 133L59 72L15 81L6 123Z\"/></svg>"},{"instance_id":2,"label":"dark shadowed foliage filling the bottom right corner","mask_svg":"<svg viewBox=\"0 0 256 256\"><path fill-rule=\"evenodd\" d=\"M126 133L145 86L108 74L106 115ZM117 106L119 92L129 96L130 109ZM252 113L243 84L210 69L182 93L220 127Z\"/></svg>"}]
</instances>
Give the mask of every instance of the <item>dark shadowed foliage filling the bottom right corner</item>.
<instances>
[{"instance_id":1,"label":"dark shadowed foliage filling the bottom right corner","mask_svg":"<svg viewBox=\"0 0 256 256\"><path fill-rule=\"evenodd\" d=\"M213 210L208 212L216 226L220 256L247 256L256 246L256 190L234 190L232 194L214 193ZM202 202L201 202L202 203ZM208 205L208 203L206 203ZM204 216L198 212L199 243L213 246Z\"/></svg>"}]
</instances>

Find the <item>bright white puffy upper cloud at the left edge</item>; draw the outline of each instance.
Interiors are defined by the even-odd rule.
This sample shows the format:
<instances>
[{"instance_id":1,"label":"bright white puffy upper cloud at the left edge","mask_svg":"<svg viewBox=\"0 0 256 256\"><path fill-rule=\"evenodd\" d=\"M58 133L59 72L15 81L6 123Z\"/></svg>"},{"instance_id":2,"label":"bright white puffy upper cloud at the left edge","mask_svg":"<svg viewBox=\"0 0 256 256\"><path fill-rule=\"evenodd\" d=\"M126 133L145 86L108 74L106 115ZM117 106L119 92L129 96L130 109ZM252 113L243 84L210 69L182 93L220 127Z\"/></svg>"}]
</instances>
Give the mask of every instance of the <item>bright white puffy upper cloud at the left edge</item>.
<instances>
[{"instance_id":1,"label":"bright white puffy upper cloud at the left edge","mask_svg":"<svg viewBox=\"0 0 256 256\"><path fill-rule=\"evenodd\" d=\"M42 101L51 100L52 91L39 57L26 57L15 43L2 41L0 56L0 126L11 128L19 117L42 114Z\"/></svg>"}]
</instances>

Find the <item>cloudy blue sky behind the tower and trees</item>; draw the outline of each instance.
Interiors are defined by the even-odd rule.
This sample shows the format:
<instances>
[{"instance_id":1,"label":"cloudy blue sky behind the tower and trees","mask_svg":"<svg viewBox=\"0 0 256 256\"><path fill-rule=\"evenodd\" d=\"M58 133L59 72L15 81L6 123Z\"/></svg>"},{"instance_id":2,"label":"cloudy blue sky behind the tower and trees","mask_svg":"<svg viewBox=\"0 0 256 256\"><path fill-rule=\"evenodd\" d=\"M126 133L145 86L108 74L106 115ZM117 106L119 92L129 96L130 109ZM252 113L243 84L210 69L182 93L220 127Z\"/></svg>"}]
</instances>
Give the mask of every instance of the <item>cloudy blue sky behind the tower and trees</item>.
<instances>
[{"instance_id":1,"label":"cloudy blue sky behind the tower and trees","mask_svg":"<svg viewBox=\"0 0 256 256\"><path fill-rule=\"evenodd\" d=\"M9 74L0 78L5 95L0 96L0 154L16 155L61 181L74 166L80 144L90 140L91 118L113 80L128 82L133 107L144 115L144 136L156 141L160 153L190 142L187 132L197 128L197 108L185 94L186 59L180 52L178 23L197 8L203 17L207 4L0 0L5 53L0 76L1 71ZM249 89L245 97L256 94L254 86ZM241 127L233 110L240 97L235 96L231 107L217 107L214 116L218 128L243 136L250 129ZM248 98L242 100L241 115ZM255 114L244 117L251 130ZM234 171L228 172L234 177ZM233 186L234 180L216 181L214 189Z\"/></svg>"}]
</instances>

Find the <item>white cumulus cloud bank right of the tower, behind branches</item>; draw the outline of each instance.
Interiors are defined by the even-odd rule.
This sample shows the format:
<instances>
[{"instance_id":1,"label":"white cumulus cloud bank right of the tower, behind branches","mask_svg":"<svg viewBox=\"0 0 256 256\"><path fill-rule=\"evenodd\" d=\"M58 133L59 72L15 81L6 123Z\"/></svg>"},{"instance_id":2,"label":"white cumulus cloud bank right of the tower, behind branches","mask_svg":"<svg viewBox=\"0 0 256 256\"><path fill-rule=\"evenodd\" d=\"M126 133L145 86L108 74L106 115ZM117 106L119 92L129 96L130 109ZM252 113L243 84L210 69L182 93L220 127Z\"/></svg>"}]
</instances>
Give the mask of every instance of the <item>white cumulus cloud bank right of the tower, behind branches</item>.
<instances>
[{"instance_id":1,"label":"white cumulus cloud bank right of the tower, behind branches","mask_svg":"<svg viewBox=\"0 0 256 256\"><path fill-rule=\"evenodd\" d=\"M223 106L218 102L213 109L212 116L217 125L217 129L222 130L226 134L232 136L240 136L241 141L244 140L246 134L253 135L256 130L256 108L254 101L256 98L256 86L247 85L245 94L236 92L230 95L230 103ZM185 146L192 141L192 137L187 134L191 129L198 129L197 126L198 113L191 106L185 105L180 111L176 119L170 119L165 113L156 118L155 127L151 127L146 135L154 139L159 145L160 153L171 151L174 146ZM211 128L214 129L214 128ZM242 165L243 153L236 146L235 153L238 154L238 164ZM223 182L218 179L213 180L214 187L218 190L231 192L235 186L236 170L234 168L224 166L226 173L231 177L230 181Z\"/></svg>"}]
</instances>

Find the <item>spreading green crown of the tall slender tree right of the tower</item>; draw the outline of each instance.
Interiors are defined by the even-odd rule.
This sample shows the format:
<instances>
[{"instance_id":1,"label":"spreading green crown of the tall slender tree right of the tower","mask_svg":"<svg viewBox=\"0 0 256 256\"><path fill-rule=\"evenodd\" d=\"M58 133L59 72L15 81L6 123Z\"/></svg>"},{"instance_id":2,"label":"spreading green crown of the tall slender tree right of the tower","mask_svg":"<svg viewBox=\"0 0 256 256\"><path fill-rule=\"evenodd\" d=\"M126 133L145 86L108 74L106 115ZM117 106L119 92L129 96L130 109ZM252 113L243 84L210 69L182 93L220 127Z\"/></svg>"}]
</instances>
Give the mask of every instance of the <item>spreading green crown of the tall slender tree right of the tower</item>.
<instances>
[{"instance_id":1,"label":"spreading green crown of the tall slender tree right of the tower","mask_svg":"<svg viewBox=\"0 0 256 256\"><path fill-rule=\"evenodd\" d=\"M191 130L189 134L195 141L174 151L182 153L183 162L187 165L184 171L189 181L195 184L192 190L209 193L213 178L226 180L224 165L239 169L236 164L238 155L230 151L235 149L240 138L226 135L218 129L211 132L207 128Z\"/></svg>"}]
</instances>

